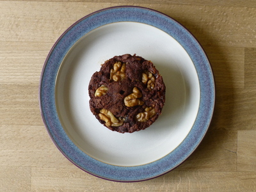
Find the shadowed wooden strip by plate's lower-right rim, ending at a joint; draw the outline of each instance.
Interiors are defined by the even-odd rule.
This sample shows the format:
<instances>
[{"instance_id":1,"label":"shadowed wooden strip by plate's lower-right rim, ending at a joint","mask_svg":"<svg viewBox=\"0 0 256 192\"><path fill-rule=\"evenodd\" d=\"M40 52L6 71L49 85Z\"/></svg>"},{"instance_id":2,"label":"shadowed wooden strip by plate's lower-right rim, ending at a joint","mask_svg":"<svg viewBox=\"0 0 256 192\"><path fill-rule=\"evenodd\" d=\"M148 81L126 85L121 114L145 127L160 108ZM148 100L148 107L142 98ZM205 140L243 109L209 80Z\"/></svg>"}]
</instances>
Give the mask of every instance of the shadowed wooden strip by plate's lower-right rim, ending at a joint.
<instances>
[{"instance_id":1,"label":"shadowed wooden strip by plate's lower-right rim, ending at a joint","mask_svg":"<svg viewBox=\"0 0 256 192\"><path fill-rule=\"evenodd\" d=\"M210 130L195 152L181 164L181 171L236 172L237 132Z\"/></svg>"}]
</instances>

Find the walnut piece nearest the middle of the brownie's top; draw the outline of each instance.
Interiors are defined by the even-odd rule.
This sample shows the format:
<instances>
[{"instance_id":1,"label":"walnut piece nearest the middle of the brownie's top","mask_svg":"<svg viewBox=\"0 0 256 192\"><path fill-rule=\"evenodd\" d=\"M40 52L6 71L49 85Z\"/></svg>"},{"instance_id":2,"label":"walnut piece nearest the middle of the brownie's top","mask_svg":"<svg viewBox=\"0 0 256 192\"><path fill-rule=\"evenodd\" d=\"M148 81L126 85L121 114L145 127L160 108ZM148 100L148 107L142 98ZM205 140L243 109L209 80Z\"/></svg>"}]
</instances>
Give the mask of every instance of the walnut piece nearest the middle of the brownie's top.
<instances>
[{"instance_id":1,"label":"walnut piece nearest the middle of the brownie's top","mask_svg":"<svg viewBox=\"0 0 256 192\"><path fill-rule=\"evenodd\" d=\"M127 107L133 106L142 106L144 102L139 98L142 97L142 94L138 88L134 87L132 93L124 98L124 104Z\"/></svg>"}]
</instances>

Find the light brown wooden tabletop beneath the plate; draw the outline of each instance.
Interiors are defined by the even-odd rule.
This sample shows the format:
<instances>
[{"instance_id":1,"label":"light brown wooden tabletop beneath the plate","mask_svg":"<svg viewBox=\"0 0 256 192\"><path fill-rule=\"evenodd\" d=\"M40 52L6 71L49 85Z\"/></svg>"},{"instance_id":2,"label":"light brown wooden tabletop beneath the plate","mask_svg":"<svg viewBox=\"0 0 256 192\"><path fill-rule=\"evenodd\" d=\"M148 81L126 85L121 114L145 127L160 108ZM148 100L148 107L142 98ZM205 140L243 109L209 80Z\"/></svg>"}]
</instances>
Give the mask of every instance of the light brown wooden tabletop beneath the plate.
<instances>
[{"instance_id":1,"label":"light brown wooden tabletop beneath the plate","mask_svg":"<svg viewBox=\"0 0 256 192\"><path fill-rule=\"evenodd\" d=\"M74 166L51 141L38 104L54 42L84 15L117 5L153 8L183 24L216 80L200 146L179 168L144 182L111 182ZM0 66L0 191L256 191L256 1L0 1Z\"/></svg>"}]
</instances>

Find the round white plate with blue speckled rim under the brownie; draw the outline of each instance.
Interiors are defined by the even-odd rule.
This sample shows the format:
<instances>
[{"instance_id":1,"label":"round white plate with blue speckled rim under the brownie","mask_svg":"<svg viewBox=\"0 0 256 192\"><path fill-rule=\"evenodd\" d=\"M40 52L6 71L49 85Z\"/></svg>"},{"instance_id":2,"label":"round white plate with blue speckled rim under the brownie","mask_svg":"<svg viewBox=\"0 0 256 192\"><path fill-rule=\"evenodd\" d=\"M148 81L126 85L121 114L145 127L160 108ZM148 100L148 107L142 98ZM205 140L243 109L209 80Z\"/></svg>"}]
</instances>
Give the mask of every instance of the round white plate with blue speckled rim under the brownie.
<instances>
[{"instance_id":1,"label":"round white plate with blue speckled rim under the brownie","mask_svg":"<svg viewBox=\"0 0 256 192\"><path fill-rule=\"evenodd\" d=\"M105 60L137 54L151 60L166 84L163 114L143 131L121 134L101 125L89 107L88 83ZM40 109L56 147L102 179L148 180L184 162L211 122L211 65L195 37L163 13L138 6L94 12L52 47L40 79Z\"/></svg>"}]
</instances>

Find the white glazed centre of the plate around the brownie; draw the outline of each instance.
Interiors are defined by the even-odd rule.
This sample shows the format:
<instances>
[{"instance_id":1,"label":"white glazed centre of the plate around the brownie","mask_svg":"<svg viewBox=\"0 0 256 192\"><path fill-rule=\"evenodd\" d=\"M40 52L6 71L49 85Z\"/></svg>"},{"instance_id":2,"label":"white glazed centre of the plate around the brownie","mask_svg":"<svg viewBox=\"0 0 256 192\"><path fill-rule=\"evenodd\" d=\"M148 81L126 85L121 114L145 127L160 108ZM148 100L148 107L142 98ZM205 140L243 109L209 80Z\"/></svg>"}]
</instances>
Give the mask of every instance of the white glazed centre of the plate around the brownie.
<instances>
[{"instance_id":1,"label":"white glazed centre of the plate around the brownie","mask_svg":"<svg viewBox=\"0 0 256 192\"><path fill-rule=\"evenodd\" d=\"M88 84L105 60L127 53L154 63L166 85L166 103L153 125L121 134L92 115ZM89 156L118 166L151 163L177 148L195 122L199 100L198 76L188 53L164 31L138 22L108 24L83 36L56 79L56 108L70 140Z\"/></svg>"}]
</instances>

